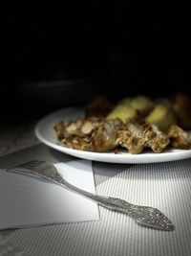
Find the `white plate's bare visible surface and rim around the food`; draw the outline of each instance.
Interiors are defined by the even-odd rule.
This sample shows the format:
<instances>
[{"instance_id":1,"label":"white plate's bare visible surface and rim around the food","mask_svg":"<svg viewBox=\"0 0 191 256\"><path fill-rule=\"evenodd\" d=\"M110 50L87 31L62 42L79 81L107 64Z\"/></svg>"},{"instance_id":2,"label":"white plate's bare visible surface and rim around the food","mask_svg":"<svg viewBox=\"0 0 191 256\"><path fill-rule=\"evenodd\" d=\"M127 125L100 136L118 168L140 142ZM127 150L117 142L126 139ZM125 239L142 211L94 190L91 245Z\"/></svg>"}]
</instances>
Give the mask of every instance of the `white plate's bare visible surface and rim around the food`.
<instances>
[{"instance_id":1,"label":"white plate's bare visible surface and rim around the food","mask_svg":"<svg viewBox=\"0 0 191 256\"><path fill-rule=\"evenodd\" d=\"M130 154L126 151L114 152L91 152L77 151L59 145L53 125L63 120L75 120L82 117L84 112L80 108L67 107L51 113L43 118L35 128L37 138L47 146L57 151L93 161L107 163L157 163L174 161L191 157L191 150L173 150L169 149L161 153L145 151L139 154Z\"/></svg>"}]
</instances>

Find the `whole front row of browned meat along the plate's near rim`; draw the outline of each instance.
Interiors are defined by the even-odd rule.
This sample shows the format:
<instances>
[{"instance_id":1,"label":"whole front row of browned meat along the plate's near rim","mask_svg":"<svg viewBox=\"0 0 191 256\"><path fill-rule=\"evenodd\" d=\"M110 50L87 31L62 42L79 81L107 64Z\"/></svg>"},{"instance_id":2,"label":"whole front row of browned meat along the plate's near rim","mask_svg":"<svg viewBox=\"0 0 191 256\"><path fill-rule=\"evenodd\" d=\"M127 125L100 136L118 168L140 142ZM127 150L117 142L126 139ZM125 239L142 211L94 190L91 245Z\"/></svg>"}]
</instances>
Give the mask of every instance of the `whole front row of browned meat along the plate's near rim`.
<instances>
[{"instance_id":1,"label":"whole front row of browned meat along the plate's near rim","mask_svg":"<svg viewBox=\"0 0 191 256\"><path fill-rule=\"evenodd\" d=\"M104 152L121 147L137 154L147 148L155 152L168 146L191 148L189 135L175 125L164 133L155 125L137 121L123 124L119 119L81 118L57 123L54 130L63 145L80 151Z\"/></svg>"}]
</instances>

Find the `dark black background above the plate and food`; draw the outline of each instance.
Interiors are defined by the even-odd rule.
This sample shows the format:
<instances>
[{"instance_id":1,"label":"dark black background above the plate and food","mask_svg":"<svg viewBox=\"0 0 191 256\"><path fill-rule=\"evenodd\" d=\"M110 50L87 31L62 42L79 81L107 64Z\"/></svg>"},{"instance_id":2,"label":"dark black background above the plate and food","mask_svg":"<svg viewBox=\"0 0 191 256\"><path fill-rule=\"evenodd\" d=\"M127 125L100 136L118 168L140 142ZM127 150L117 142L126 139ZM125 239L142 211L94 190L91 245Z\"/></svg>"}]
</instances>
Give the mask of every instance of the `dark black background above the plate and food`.
<instances>
[{"instance_id":1,"label":"dark black background above the plate and food","mask_svg":"<svg viewBox=\"0 0 191 256\"><path fill-rule=\"evenodd\" d=\"M32 118L58 106L83 105L94 93L113 99L190 94L189 21L130 19L124 8L96 7L9 12L3 19L3 116ZM39 81L45 81L43 89ZM50 86L50 81L73 85Z\"/></svg>"}]
</instances>

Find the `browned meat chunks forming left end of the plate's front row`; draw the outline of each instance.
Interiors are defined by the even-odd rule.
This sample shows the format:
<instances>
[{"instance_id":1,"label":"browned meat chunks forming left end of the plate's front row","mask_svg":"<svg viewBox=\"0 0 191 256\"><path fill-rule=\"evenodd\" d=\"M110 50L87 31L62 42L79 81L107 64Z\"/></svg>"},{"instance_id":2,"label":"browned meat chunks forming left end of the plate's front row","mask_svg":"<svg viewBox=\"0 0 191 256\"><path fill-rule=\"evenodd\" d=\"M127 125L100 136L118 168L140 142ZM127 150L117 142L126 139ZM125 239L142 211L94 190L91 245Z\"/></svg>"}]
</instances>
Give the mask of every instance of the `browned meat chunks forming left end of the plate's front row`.
<instances>
[{"instance_id":1,"label":"browned meat chunks forming left end of the plate's front row","mask_svg":"<svg viewBox=\"0 0 191 256\"><path fill-rule=\"evenodd\" d=\"M80 151L110 151L117 147L120 120L99 118L61 122L54 126L58 139L67 147Z\"/></svg>"}]
</instances>

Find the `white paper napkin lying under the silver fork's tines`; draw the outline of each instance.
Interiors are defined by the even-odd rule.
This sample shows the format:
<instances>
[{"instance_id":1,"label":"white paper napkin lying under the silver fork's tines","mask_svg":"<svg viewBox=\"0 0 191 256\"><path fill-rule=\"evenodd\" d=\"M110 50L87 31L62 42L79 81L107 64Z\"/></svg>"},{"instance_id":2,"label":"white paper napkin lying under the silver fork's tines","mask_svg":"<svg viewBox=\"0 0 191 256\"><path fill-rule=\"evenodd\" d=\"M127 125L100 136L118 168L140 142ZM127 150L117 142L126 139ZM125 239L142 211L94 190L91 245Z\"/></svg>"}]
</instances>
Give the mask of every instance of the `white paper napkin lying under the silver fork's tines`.
<instances>
[{"instance_id":1,"label":"white paper napkin lying under the silver fork's tines","mask_svg":"<svg viewBox=\"0 0 191 256\"><path fill-rule=\"evenodd\" d=\"M73 160L54 166L74 186L96 192L92 162ZM92 200L46 180L0 170L0 229L98 220Z\"/></svg>"}]
</instances>

